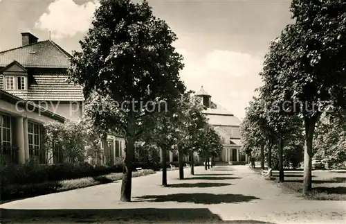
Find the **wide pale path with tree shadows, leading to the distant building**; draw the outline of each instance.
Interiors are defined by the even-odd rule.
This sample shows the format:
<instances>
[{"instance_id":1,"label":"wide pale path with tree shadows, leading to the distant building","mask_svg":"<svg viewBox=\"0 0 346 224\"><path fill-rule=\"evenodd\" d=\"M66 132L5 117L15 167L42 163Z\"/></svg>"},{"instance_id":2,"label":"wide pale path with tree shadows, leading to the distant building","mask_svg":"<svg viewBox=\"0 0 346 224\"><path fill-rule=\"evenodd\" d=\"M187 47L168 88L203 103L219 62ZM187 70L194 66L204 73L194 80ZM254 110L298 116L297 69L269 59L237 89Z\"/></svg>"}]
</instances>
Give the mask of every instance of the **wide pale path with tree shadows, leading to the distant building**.
<instances>
[{"instance_id":1,"label":"wide pale path with tree shadows, leading to the distant building","mask_svg":"<svg viewBox=\"0 0 346 224\"><path fill-rule=\"evenodd\" d=\"M304 200L264 180L248 166L185 169L132 180L132 202L120 182L1 205L1 223L346 223L343 201ZM34 210L35 209L35 210Z\"/></svg>"}]
</instances>

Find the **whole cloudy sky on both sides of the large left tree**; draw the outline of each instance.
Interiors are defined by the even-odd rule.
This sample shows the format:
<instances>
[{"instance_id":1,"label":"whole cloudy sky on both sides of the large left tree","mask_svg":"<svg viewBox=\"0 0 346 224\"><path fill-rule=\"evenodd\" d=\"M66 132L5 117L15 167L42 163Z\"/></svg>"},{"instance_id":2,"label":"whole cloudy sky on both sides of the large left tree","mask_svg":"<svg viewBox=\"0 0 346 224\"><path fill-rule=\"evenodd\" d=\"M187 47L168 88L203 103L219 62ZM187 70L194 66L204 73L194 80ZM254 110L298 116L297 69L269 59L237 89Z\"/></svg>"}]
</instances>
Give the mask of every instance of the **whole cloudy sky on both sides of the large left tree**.
<instances>
[{"instance_id":1,"label":"whole cloudy sky on both sides of the large left tree","mask_svg":"<svg viewBox=\"0 0 346 224\"><path fill-rule=\"evenodd\" d=\"M261 85L269 43L291 23L290 0L150 1L179 40L181 78L188 89L201 85L212 101L237 117ZM51 39L66 51L79 50L98 1L0 0L0 51L21 45L21 32Z\"/></svg>"}]
</instances>

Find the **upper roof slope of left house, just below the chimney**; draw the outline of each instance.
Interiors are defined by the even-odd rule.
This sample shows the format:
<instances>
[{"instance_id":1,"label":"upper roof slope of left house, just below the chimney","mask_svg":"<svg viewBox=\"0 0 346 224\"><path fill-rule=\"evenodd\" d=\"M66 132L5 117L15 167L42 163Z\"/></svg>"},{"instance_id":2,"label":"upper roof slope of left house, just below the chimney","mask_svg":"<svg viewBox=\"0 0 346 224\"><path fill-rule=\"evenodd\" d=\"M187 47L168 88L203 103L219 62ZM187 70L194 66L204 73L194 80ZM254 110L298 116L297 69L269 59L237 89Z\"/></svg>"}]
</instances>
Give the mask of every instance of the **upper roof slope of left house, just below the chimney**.
<instances>
[{"instance_id":1,"label":"upper roof slope of left house, just below the chimney","mask_svg":"<svg viewBox=\"0 0 346 224\"><path fill-rule=\"evenodd\" d=\"M16 60L23 67L68 68L71 55L52 40L0 52L0 67Z\"/></svg>"}]
</instances>

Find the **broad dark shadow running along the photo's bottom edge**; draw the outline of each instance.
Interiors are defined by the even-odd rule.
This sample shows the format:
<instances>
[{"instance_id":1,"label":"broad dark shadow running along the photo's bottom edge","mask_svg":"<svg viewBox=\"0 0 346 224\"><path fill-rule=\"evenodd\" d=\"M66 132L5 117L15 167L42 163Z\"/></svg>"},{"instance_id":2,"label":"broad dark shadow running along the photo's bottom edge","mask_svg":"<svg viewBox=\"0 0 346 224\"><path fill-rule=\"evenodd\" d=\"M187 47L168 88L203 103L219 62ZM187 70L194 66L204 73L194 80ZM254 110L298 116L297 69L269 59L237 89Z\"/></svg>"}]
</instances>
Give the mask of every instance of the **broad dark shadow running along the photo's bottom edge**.
<instances>
[{"instance_id":1,"label":"broad dark shadow running along the photo's bottom edge","mask_svg":"<svg viewBox=\"0 0 346 224\"><path fill-rule=\"evenodd\" d=\"M209 209L1 209L1 223L266 223L222 221Z\"/></svg>"}]
</instances>

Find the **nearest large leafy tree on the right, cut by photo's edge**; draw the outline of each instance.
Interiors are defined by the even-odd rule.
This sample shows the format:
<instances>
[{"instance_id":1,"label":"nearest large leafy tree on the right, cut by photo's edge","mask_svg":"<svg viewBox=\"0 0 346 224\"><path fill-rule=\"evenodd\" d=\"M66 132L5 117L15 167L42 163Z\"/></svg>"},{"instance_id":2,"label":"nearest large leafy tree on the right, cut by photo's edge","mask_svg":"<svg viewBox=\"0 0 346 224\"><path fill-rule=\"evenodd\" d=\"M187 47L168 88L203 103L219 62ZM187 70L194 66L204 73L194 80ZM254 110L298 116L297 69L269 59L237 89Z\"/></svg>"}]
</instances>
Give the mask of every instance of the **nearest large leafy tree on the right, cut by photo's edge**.
<instances>
[{"instance_id":1,"label":"nearest large leafy tree on the right, cut by photo's edge","mask_svg":"<svg viewBox=\"0 0 346 224\"><path fill-rule=\"evenodd\" d=\"M281 62L266 82L275 87L279 101L293 102L305 129L303 194L311 191L313 132L320 114L330 105L346 107L346 2L293 0L295 24L277 40ZM274 78L275 76L275 78ZM302 105L300 107L300 105Z\"/></svg>"}]
</instances>

